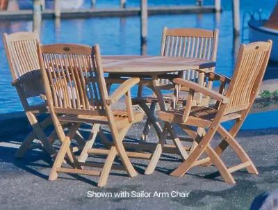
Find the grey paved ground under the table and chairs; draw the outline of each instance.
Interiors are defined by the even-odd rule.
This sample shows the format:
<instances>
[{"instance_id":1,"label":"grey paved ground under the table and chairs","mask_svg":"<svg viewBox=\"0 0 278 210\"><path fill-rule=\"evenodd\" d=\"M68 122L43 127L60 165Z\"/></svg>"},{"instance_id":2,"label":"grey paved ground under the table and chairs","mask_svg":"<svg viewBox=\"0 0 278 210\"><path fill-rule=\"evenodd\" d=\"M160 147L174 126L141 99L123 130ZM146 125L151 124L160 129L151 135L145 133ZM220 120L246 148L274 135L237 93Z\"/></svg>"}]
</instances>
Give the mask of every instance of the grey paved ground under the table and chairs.
<instances>
[{"instance_id":1,"label":"grey paved ground under the table and chairs","mask_svg":"<svg viewBox=\"0 0 278 210\"><path fill-rule=\"evenodd\" d=\"M179 159L164 156L153 175L142 175L147 161L133 160L140 175L131 179L124 172L113 171L106 187L97 188L97 177L59 175L56 181L48 181L52 161L47 154L38 150L28 152L24 159L13 157L30 129L26 119L0 124L0 209L249 209L256 195L278 188L278 129L240 131L238 141L260 174L235 172L234 185L225 184L213 167L194 168L182 178L170 177L167 173L179 164ZM141 131L142 124L137 124L129 137L138 138ZM155 136L151 139L155 140ZM231 150L223 158L229 165L237 161ZM91 198L88 191L112 193L113 197ZM115 197L114 193L121 191L130 197ZM150 197L131 197L141 191L151 193ZM156 192L164 193L164 197L154 197ZM181 196L177 192L189 195L175 197Z\"/></svg>"}]
</instances>

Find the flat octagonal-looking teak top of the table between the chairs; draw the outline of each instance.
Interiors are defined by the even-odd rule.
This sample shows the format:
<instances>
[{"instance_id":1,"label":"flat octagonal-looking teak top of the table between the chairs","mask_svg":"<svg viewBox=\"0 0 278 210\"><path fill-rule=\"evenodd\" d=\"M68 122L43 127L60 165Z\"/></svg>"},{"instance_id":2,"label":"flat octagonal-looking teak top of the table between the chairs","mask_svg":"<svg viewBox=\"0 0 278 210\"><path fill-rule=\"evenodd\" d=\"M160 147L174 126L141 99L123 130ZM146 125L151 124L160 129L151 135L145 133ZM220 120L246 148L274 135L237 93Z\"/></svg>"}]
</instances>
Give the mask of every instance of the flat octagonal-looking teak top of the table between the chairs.
<instances>
[{"instance_id":1,"label":"flat octagonal-looking teak top of the table between the chairs","mask_svg":"<svg viewBox=\"0 0 278 210\"><path fill-rule=\"evenodd\" d=\"M166 56L101 56L104 72L122 74L165 74L215 67L215 62L199 58Z\"/></svg>"}]
</instances>

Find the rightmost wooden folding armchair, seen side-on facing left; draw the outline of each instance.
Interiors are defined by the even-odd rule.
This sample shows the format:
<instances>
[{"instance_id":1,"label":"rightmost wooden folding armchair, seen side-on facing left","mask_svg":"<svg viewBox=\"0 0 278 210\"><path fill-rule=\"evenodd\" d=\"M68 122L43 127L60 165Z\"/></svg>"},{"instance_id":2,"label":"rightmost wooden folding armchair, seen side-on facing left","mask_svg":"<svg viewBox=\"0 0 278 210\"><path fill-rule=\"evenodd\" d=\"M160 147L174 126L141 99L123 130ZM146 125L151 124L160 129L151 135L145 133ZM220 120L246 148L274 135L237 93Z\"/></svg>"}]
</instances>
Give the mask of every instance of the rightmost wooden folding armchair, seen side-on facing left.
<instances>
[{"instance_id":1,"label":"rightmost wooden folding armchair, seen side-on facing left","mask_svg":"<svg viewBox=\"0 0 278 210\"><path fill-rule=\"evenodd\" d=\"M178 124L198 145L189 154L188 159L181 163L171 175L180 177L188 172L190 168L193 168L193 166L208 166L211 163L218 168L224 181L230 184L235 183L231 172L247 168L248 172L258 174L254 163L247 156L243 147L238 144L235 136L249 113L256 94L259 92L259 86L268 64L271 48L271 40L268 42L254 42L250 45L241 45L232 79L213 72L206 73L206 82L220 81L219 92L200 86L198 83L193 83L192 81L174 79L173 82L177 86L189 88L186 106L158 112L158 116L164 122ZM215 105L209 107L193 106L195 92L201 92L211 97L211 99L216 101ZM234 121L234 126L227 131L221 123L231 120ZM196 132L199 128L204 129L202 134ZM167 131L164 129L164 132ZM211 140L216 132L222 136L223 140L218 147L213 149ZM161 138L158 147L163 147L164 141L165 139ZM230 168L227 168L222 159L220 159L220 155L228 146L231 146L231 149L234 150L242 162ZM204 153L208 157L199 159ZM154 154L148 166L149 170L154 169L158 161L157 156L158 154Z\"/></svg>"}]
</instances>

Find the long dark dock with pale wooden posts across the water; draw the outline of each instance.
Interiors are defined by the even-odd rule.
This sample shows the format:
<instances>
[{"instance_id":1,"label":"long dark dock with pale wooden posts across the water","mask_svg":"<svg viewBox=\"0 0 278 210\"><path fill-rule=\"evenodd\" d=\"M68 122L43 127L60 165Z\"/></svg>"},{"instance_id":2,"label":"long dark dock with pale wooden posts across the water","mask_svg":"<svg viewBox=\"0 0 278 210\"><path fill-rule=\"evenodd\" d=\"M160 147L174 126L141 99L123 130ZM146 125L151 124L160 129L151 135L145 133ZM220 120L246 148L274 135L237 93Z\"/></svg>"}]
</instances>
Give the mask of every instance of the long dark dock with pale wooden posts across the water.
<instances>
[{"instance_id":1,"label":"long dark dock with pale wooden posts across the water","mask_svg":"<svg viewBox=\"0 0 278 210\"><path fill-rule=\"evenodd\" d=\"M10 0L17 3L17 0ZM221 1L204 6L203 0L196 0L195 5L184 6L148 6L147 0L140 0L138 7L126 7L126 0L120 0L120 7L97 8L96 0L91 1L90 8L65 9L61 8L61 0L54 0L54 9L45 9L45 0L33 0L33 9L0 11L1 21L17 21L19 19L33 20L33 30L40 33L42 19L56 19L56 27L60 27L60 19L89 18L89 17L140 17L141 54L147 54L147 22L149 15L177 15L220 13Z\"/></svg>"}]
</instances>

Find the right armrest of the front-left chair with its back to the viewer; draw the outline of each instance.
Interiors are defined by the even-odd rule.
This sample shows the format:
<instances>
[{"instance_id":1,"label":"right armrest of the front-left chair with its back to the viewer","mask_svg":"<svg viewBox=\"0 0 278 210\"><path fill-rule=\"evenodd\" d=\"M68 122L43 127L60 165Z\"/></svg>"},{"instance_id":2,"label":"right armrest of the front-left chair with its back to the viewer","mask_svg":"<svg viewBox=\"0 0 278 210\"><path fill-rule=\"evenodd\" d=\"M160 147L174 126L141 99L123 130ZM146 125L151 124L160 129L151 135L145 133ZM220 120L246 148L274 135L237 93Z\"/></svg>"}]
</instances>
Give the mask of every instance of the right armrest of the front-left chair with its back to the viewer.
<instances>
[{"instance_id":1,"label":"right armrest of the front-left chair with its back to the viewer","mask_svg":"<svg viewBox=\"0 0 278 210\"><path fill-rule=\"evenodd\" d=\"M106 99L106 103L108 105L114 104L117 102L126 92L128 92L133 86L135 86L137 83L139 83L139 78L131 78L127 79L122 83L117 90L115 90L108 99Z\"/></svg>"}]
</instances>

